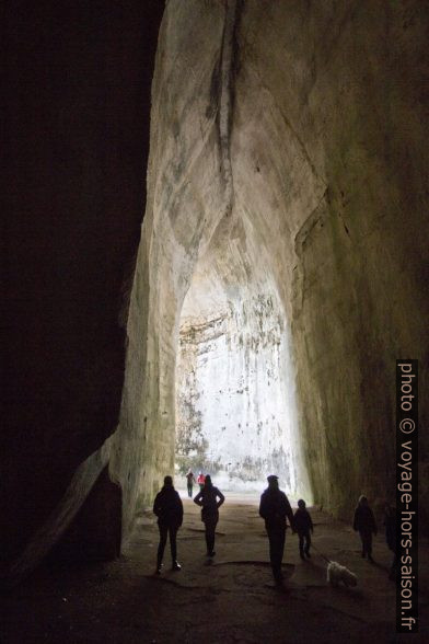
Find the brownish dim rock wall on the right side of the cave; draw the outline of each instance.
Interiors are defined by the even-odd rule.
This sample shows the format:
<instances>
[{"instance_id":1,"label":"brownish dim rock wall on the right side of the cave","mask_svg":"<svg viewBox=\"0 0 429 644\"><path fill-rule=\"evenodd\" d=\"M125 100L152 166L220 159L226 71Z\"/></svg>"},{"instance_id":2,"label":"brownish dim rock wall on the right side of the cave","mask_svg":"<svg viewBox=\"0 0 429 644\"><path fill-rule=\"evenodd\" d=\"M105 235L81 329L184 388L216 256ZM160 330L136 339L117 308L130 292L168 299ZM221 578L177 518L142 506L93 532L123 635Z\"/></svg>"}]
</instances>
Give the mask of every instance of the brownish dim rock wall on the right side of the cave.
<instances>
[{"instance_id":1,"label":"brownish dim rock wall on the right side of the cave","mask_svg":"<svg viewBox=\"0 0 429 644\"><path fill-rule=\"evenodd\" d=\"M287 127L286 194L278 203L294 222L286 306L303 447L316 498L348 517L360 491L392 494L395 359L418 357L427 382L428 159L420 141L428 14L414 2L245 7L240 123L246 131L262 129L263 118L271 131L277 123ZM279 168L277 140L271 136L264 149L270 174ZM325 186L311 211L311 186L289 183L299 165L292 141ZM265 183L273 185L269 174ZM247 195L254 200L253 191ZM424 426L428 409L420 402ZM426 441L421 434L422 459Z\"/></svg>"}]
</instances>

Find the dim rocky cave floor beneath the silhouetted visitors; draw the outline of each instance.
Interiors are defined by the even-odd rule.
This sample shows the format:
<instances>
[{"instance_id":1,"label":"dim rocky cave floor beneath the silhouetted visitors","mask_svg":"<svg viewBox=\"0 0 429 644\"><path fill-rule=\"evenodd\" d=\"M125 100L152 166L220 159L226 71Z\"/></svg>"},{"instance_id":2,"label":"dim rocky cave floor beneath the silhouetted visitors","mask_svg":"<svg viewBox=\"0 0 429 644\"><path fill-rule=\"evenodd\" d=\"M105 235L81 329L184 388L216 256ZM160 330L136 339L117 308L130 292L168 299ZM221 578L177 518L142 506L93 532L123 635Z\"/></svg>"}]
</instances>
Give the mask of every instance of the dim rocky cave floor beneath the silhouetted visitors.
<instances>
[{"instance_id":1,"label":"dim rocky cave floor beneath the silhouetted visitors","mask_svg":"<svg viewBox=\"0 0 429 644\"><path fill-rule=\"evenodd\" d=\"M314 545L358 576L357 588L326 585L326 563L314 549L302 562L298 537L288 531L285 590L271 582L268 542L256 496L228 494L217 532L217 555L205 556L199 508L184 499L178 536L182 571L155 576L158 528L151 513L139 517L134 539L114 562L40 568L4 601L1 642L80 644L242 642L409 642L395 634L395 584L383 531L374 564L362 560L351 528L312 510ZM169 545L167 545L169 548ZM427 622L429 549L420 542L420 633Z\"/></svg>"}]
</instances>

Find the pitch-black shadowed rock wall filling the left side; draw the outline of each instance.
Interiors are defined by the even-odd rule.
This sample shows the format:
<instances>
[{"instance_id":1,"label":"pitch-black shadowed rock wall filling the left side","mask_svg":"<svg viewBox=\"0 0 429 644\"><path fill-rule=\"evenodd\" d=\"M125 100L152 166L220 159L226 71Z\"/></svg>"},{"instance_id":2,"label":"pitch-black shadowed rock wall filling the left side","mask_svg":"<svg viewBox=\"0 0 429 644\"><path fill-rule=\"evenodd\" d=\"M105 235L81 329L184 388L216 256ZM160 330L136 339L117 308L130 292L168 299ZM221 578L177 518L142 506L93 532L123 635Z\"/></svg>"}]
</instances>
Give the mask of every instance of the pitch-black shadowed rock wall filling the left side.
<instances>
[{"instance_id":1,"label":"pitch-black shadowed rock wall filling the left side","mask_svg":"<svg viewBox=\"0 0 429 644\"><path fill-rule=\"evenodd\" d=\"M91 455L120 409L163 10L159 0L4 8L0 551L12 560L27 544L20 570L59 538L108 461ZM120 532L112 490L106 543ZM98 485L95 514L100 496Z\"/></svg>"}]
</instances>

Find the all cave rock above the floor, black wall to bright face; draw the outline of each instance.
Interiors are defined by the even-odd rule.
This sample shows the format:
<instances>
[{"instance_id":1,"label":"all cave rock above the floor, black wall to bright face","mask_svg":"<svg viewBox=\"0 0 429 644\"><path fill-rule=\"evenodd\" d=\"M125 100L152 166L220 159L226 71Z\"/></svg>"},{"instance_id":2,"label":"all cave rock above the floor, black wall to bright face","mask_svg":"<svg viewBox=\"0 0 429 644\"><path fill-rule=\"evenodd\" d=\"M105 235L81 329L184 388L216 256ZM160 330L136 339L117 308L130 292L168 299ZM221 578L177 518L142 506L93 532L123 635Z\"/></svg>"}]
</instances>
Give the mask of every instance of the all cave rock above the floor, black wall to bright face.
<instances>
[{"instance_id":1,"label":"all cave rock above the floor, black wall to bright face","mask_svg":"<svg viewBox=\"0 0 429 644\"><path fill-rule=\"evenodd\" d=\"M188 464L381 509L395 360L428 379L427 9L98 4L8 14L8 571L117 556Z\"/></svg>"}]
</instances>

